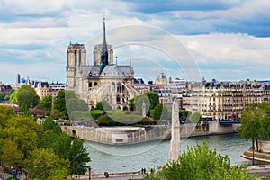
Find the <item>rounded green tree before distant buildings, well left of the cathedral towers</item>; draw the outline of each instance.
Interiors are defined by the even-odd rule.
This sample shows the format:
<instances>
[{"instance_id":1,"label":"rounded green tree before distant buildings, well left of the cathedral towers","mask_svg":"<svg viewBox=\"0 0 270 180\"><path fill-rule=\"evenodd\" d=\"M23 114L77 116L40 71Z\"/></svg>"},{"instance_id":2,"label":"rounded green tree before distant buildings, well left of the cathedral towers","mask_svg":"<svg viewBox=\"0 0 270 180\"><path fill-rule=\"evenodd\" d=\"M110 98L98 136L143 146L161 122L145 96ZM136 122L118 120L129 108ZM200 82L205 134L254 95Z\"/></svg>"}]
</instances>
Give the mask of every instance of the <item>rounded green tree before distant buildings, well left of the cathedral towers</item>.
<instances>
[{"instance_id":1,"label":"rounded green tree before distant buildings, well left of the cathedral towers","mask_svg":"<svg viewBox=\"0 0 270 180\"><path fill-rule=\"evenodd\" d=\"M21 112L23 111L23 114L26 113L29 108L40 103L40 97L31 85L22 85L18 90L17 98L20 110Z\"/></svg>"}]
</instances>

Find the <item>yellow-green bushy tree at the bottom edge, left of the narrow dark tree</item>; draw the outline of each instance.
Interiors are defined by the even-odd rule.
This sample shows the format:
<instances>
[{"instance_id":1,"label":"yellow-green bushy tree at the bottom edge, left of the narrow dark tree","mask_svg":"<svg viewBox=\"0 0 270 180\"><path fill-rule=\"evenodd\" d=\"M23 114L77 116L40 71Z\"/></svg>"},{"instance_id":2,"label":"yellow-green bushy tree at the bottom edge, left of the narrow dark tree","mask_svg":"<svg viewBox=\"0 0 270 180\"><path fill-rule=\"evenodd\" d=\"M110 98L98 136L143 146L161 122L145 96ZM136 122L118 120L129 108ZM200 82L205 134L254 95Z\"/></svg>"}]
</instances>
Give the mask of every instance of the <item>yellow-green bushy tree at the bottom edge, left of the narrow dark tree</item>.
<instances>
[{"instance_id":1,"label":"yellow-green bushy tree at the bottom edge, left of the narrow dark tree","mask_svg":"<svg viewBox=\"0 0 270 180\"><path fill-rule=\"evenodd\" d=\"M69 174L68 159L58 157L52 149L37 148L23 163L28 179L59 180Z\"/></svg>"}]
</instances>

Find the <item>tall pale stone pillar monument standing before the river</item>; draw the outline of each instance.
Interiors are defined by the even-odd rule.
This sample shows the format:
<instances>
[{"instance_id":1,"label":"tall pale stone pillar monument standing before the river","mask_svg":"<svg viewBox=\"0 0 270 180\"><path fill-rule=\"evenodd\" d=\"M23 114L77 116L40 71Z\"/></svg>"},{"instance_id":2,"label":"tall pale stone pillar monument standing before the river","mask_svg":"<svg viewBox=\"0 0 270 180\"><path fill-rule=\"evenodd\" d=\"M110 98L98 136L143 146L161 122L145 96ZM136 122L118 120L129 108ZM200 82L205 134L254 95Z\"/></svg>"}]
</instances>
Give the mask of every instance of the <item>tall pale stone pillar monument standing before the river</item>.
<instances>
[{"instance_id":1,"label":"tall pale stone pillar monument standing before the river","mask_svg":"<svg viewBox=\"0 0 270 180\"><path fill-rule=\"evenodd\" d=\"M172 107L172 130L171 130L171 148L168 161L172 162L180 156L180 121L179 121L179 103L174 101Z\"/></svg>"}]
</instances>

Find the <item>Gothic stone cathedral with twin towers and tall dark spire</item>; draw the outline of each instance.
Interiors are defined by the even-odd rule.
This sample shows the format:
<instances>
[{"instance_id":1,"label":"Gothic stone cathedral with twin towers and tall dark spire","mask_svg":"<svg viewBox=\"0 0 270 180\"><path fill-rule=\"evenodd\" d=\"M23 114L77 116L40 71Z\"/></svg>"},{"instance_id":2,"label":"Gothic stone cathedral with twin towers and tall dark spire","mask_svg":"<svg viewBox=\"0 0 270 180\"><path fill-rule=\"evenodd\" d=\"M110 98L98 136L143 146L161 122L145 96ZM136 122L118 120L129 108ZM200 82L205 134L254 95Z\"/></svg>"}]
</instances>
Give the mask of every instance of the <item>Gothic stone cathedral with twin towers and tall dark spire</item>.
<instances>
[{"instance_id":1,"label":"Gothic stone cathedral with twin towers and tall dark spire","mask_svg":"<svg viewBox=\"0 0 270 180\"><path fill-rule=\"evenodd\" d=\"M66 90L85 100L89 109L100 101L107 101L112 109L128 110L129 102L138 95L133 88L134 70L130 66L113 64L113 49L106 42L103 18L103 43L94 46L94 63L86 63L84 44L70 44L67 48Z\"/></svg>"}]
</instances>

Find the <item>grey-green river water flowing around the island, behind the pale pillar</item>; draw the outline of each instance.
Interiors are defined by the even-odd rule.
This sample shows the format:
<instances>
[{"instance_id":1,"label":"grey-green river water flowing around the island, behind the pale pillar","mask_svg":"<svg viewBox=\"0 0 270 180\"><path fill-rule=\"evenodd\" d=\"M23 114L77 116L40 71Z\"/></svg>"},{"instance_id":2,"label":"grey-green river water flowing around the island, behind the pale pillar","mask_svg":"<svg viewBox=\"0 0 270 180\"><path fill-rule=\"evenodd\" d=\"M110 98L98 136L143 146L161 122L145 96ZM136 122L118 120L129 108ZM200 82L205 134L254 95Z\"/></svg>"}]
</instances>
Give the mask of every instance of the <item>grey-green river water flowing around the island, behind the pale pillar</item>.
<instances>
[{"instance_id":1,"label":"grey-green river water flowing around the island, behind the pale pillar","mask_svg":"<svg viewBox=\"0 0 270 180\"><path fill-rule=\"evenodd\" d=\"M242 139L238 134L214 135L181 139L181 152L187 146L207 141L221 155L228 155L231 165L250 164L240 155L251 146L251 142ZM170 140L153 141L129 146L109 146L85 141L85 147L91 156L90 166L95 173L105 171L130 172L139 171L142 167L151 168L164 165L168 158Z\"/></svg>"}]
</instances>

